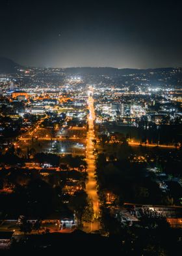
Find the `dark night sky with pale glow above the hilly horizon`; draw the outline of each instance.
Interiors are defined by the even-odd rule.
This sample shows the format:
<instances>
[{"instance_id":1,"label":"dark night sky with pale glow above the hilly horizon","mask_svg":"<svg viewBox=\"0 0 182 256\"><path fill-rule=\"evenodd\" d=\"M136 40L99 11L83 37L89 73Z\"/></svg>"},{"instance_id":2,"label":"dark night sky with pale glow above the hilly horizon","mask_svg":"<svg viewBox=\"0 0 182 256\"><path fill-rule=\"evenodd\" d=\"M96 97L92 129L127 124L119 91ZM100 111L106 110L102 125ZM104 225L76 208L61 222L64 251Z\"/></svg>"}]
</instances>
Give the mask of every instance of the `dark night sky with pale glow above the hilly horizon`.
<instances>
[{"instance_id":1,"label":"dark night sky with pale glow above the hilly horizon","mask_svg":"<svg viewBox=\"0 0 182 256\"><path fill-rule=\"evenodd\" d=\"M0 56L39 67L179 67L181 7L167 0L1 0Z\"/></svg>"}]
</instances>

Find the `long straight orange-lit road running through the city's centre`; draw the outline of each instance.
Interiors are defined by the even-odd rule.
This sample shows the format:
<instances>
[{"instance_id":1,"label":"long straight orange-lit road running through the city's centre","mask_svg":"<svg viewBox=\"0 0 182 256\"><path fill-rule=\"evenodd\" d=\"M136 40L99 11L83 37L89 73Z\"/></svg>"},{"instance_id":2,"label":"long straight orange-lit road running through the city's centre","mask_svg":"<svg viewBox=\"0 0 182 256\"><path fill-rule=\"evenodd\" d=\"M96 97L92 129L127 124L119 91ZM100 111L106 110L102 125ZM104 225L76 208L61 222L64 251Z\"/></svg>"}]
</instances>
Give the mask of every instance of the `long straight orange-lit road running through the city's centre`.
<instances>
[{"instance_id":1,"label":"long straight orange-lit road running through the city's centre","mask_svg":"<svg viewBox=\"0 0 182 256\"><path fill-rule=\"evenodd\" d=\"M94 150L94 120L95 120L95 112L94 112L94 99L89 93L88 95L88 133L87 133L87 153L86 153L86 161L88 164L87 172L88 172L88 182L86 183L86 193L88 197L92 200L93 208L94 208L94 223L91 225L91 231L99 230L99 200L98 200L98 191L97 191L97 182L95 178L96 171L96 163L95 156L93 155Z\"/></svg>"}]
</instances>

